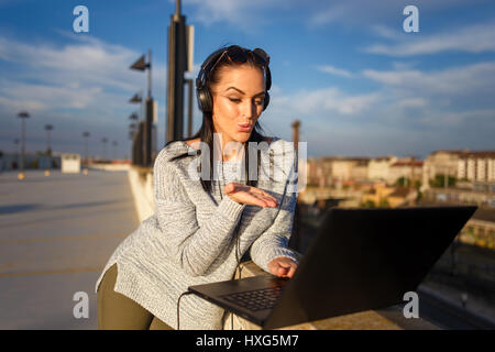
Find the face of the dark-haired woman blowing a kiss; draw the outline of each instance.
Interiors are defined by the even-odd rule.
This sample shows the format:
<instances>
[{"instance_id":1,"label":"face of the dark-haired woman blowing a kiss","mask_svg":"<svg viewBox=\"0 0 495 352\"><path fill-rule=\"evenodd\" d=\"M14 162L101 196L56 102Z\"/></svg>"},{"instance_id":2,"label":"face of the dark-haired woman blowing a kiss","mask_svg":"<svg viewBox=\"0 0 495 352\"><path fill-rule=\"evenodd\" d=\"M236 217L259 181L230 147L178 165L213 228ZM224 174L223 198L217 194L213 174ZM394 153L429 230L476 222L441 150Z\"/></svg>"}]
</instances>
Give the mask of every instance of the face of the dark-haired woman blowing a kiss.
<instances>
[{"instance_id":1,"label":"face of the dark-haired woman blowing a kiss","mask_svg":"<svg viewBox=\"0 0 495 352\"><path fill-rule=\"evenodd\" d=\"M226 66L219 77L211 87L215 132L221 133L222 147L229 142L245 143L263 111L263 72L249 65Z\"/></svg>"}]
</instances>

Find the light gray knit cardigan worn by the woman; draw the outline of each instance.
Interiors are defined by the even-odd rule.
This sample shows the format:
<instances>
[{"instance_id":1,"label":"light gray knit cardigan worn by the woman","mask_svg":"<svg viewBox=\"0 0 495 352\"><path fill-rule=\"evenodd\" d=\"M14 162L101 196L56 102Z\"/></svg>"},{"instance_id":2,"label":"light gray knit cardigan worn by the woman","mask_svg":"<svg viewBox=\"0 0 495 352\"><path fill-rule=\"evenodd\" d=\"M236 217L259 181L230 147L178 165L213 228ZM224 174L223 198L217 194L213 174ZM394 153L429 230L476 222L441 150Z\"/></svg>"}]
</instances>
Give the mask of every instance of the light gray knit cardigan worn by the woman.
<instances>
[{"instance_id":1,"label":"light gray knit cardigan worn by the woman","mask_svg":"<svg viewBox=\"0 0 495 352\"><path fill-rule=\"evenodd\" d=\"M177 328L178 297L188 286L233 277L239 257L237 235L240 254L249 251L266 272L275 257L298 260L297 253L287 249L297 199L293 142L275 138L268 150L261 151L257 187L277 198L276 208L240 205L220 195L229 182L245 184L240 162L224 162L223 176L219 166L221 180L213 180L211 193L206 193L191 177L200 157L170 161L194 151L175 141L160 152L154 164L155 213L123 240L96 283L98 292L103 274L117 263L114 290L173 328ZM222 329L223 314L202 298L184 296L180 329Z\"/></svg>"}]
</instances>

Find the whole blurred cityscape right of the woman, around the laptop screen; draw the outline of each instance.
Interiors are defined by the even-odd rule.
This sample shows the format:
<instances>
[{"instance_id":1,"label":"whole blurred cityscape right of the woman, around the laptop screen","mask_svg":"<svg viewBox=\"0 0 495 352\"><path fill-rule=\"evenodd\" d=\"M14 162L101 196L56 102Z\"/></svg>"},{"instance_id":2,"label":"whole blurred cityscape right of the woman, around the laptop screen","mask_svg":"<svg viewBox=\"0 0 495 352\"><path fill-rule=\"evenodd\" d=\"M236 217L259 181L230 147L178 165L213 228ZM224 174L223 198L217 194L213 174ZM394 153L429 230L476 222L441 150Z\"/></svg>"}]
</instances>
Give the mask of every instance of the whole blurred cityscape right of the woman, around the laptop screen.
<instances>
[{"instance_id":1,"label":"whole blurred cityscape right of the woman, around the laptop screen","mask_svg":"<svg viewBox=\"0 0 495 352\"><path fill-rule=\"evenodd\" d=\"M495 151L440 150L416 157L322 156L307 161L292 245L305 252L332 207L479 208L424 282L453 306L494 317ZM464 297L464 298L463 298ZM463 300L464 299L464 300ZM465 310L464 310L465 312Z\"/></svg>"}]
</instances>

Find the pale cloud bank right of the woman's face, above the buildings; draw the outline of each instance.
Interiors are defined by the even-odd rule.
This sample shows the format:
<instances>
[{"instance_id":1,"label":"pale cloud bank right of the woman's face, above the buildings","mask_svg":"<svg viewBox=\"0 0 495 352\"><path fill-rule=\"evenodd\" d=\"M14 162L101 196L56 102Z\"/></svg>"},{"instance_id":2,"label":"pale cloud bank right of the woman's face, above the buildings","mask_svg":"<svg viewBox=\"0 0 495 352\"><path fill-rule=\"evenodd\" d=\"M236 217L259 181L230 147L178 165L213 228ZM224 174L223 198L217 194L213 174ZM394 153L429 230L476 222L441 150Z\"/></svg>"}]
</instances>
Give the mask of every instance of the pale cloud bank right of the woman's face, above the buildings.
<instances>
[{"instance_id":1,"label":"pale cloud bank right of the woman's face, above the buildings","mask_svg":"<svg viewBox=\"0 0 495 352\"><path fill-rule=\"evenodd\" d=\"M279 89L262 121L290 139L290 122L300 120L300 141L319 155L425 156L436 148L493 145L495 62L430 72L394 66L399 68L354 74L380 85L367 94Z\"/></svg>"}]
</instances>

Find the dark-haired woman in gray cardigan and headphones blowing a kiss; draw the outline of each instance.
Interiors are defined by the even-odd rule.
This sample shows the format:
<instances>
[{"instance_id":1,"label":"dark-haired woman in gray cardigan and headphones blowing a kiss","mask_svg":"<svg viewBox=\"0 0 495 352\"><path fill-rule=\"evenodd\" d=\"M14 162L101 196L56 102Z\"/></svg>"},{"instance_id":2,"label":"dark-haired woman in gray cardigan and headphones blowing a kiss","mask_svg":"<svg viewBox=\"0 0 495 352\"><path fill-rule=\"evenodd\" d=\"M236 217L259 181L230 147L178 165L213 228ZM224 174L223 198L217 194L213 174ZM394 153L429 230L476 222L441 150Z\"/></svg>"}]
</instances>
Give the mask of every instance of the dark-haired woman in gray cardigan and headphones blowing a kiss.
<instances>
[{"instance_id":1,"label":"dark-haired woman in gray cardigan and headphones blowing a kiss","mask_svg":"<svg viewBox=\"0 0 495 352\"><path fill-rule=\"evenodd\" d=\"M262 135L257 121L270 101L268 64L264 51L237 45L202 64L201 129L156 157L155 215L96 284L100 329L172 329L178 318L182 329L222 329L223 309L188 295L178 311L178 299L188 286L231 279L243 254L273 275L294 275L295 150Z\"/></svg>"}]
</instances>

